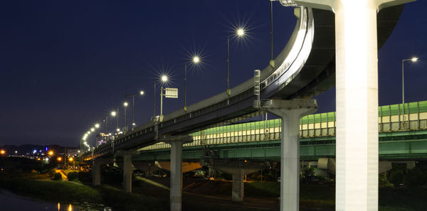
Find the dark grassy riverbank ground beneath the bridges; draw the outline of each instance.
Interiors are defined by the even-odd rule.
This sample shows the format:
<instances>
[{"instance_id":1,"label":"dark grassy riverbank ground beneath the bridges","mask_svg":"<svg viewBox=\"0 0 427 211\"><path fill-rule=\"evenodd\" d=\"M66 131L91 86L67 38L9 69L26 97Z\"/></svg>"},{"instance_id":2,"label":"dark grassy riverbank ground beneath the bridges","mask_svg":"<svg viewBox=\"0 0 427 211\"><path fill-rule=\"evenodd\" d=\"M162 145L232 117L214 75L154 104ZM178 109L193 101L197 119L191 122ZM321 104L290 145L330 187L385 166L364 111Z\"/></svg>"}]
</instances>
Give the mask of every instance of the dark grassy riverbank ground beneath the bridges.
<instances>
[{"instance_id":1,"label":"dark grassy riverbank ground beneath the bridges","mask_svg":"<svg viewBox=\"0 0 427 211\"><path fill-rule=\"evenodd\" d=\"M156 178L167 187L169 178ZM61 203L93 203L113 207L113 210L169 210L169 191L153 185L154 181L135 180L133 193L122 192L120 185L100 185L93 188L79 181L56 181L38 173L0 174L0 188L18 195ZM245 202L231 202L231 182L191 181L184 187L183 210L278 210L279 183L245 183ZM334 210L334 185L300 186L300 210ZM381 188L380 211L418 211L427 207L426 188Z\"/></svg>"}]
</instances>

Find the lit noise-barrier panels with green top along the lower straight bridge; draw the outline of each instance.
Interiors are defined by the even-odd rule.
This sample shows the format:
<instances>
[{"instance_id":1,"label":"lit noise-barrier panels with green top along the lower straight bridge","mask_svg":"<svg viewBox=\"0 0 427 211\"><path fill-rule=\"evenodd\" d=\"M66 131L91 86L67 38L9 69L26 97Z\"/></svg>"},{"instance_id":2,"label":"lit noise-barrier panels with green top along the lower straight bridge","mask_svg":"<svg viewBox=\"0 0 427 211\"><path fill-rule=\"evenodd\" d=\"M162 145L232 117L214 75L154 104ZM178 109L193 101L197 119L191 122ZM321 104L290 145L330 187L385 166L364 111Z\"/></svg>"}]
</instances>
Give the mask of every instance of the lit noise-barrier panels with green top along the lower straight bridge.
<instances>
[{"instance_id":1,"label":"lit noise-barrier panels with green top along the lower straight bridge","mask_svg":"<svg viewBox=\"0 0 427 211\"><path fill-rule=\"evenodd\" d=\"M409 115L408 115L409 113ZM403 121L405 119L405 121ZM335 112L311 114L300 120L301 144L307 141L329 140L334 144ZM278 141L280 140L280 119L267 121L253 121L243 124L231 124L190 134L194 141L189 146L213 146L218 144L236 144L241 142ZM403 115L402 104L393 104L379 107L380 141L382 136L399 136L397 131L423 131L427 130L427 101L411 102L405 104ZM398 135L399 134L399 135ZM415 134L415 133L413 133ZM417 133L419 134L419 132ZM401 139L401 138L399 138ZM323 143L325 144L325 143ZM153 144L140 151L169 148L163 142Z\"/></svg>"}]
</instances>

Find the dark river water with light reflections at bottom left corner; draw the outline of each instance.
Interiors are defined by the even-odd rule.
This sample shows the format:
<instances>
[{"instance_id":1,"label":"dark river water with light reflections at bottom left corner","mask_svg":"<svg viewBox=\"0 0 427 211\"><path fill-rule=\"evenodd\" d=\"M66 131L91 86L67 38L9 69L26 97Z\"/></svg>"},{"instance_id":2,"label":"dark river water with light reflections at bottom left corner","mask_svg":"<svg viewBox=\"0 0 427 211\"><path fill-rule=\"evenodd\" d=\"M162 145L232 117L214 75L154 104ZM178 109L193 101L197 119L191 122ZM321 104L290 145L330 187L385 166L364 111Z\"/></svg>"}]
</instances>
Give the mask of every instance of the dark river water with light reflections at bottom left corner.
<instances>
[{"instance_id":1,"label":"dark river water with light reflections at bottom left corner","mask_svg":"<svg viewBox=\"0 0 427 211\"><path fill-rule=\"evenodd\" d=\"M113 211L105 205L64 204L34 200L20 195L15 195L7 190L0 192L0 210L4 211Z\"/></svg>"}]
</instances>

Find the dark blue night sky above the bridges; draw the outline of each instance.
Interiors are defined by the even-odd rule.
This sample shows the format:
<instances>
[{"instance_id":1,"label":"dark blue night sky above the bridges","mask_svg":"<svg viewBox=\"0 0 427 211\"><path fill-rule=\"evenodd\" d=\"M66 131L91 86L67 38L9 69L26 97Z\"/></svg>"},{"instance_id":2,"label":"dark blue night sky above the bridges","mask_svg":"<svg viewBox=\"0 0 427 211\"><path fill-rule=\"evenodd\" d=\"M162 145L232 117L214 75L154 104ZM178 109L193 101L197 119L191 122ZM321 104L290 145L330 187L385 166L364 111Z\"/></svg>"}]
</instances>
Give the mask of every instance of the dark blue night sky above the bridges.
<instances>
[{"instance_id":1,"label":"dark blue night sky above the bridges","mask_svg":"<svg viewBox=\"0 0 427 211\"><path fill-rule=\"evenodd\" d=\"M401 60L406 102L427 100L427 2L407 4L379 51L379 104L401 102ZM292 9L273 2L274 55L295 26ZM164 100L164 114L226 90L227 36L231 87L270 60L270 1L2 1L0 5L0 146L78 146L83 134L135 94L135 121L153 115L153 82L162 73L179 99ZM334 89L320 94L319 112L334 111ZM128 102L130 102L128 98ZM159 114L157 90L157 114ZM127 109L130 124L130 108ZM120 109L120 126L123 124ZM115 120L110 121L110 130ZM114 122L113 122L114 121Z\"/></svg>"}]
</instances>

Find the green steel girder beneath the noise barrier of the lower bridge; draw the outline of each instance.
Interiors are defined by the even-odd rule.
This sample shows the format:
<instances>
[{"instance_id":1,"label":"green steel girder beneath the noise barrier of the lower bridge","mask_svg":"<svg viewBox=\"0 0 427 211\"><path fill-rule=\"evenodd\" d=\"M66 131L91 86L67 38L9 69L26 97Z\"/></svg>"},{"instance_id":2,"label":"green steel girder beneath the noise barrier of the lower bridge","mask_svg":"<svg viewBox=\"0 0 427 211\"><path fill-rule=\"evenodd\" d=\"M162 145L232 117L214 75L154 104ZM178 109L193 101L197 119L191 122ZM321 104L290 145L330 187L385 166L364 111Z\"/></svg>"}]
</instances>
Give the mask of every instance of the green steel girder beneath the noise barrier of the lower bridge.
<instances>
[{"instance_id":1,"label":"green steel girder beneath the noise barrier of the lower bridge","mask_svg":"<svg viewBox=\"0 0 427 211\"><path fill-rule=\"evenodd\" d=\"M183 148L184 160L204 158L205 146ZM253 141L211 145L216 158L280 160L280 141ZM316 137L300 140L300 158L303 160L335 156L335 137ZM379 134L380 159L427 158L427 131L401 131ZM141 151L135 160L161 161L170 159L170 149Z\"/></svg>"}]
</instances>

